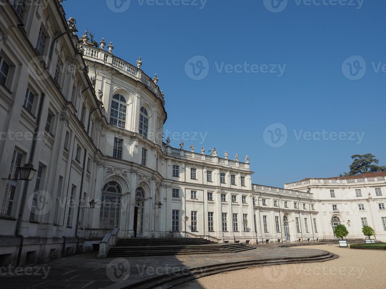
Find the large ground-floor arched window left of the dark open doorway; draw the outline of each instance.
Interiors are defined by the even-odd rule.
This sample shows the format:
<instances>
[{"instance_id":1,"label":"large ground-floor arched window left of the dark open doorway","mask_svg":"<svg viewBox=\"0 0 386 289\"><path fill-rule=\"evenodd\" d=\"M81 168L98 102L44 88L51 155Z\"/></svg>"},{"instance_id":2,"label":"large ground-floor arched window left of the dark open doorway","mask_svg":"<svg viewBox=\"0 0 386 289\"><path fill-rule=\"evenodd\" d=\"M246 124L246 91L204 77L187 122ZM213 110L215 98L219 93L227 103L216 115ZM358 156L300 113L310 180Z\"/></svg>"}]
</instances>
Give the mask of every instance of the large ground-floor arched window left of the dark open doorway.
<instances>
[{"instance_id":1,"label":"large ground-floor arched window left of the dark open doorway","mask_svg":"<svg viewBox=\"0 0 386 289\"><path fill-rule=\"evenodd\" d=\"M99 215L100 229L115 229L119 226L121 191L115 181L109 181L102 190L102 204Z\"/></svg>"}]
</instances>

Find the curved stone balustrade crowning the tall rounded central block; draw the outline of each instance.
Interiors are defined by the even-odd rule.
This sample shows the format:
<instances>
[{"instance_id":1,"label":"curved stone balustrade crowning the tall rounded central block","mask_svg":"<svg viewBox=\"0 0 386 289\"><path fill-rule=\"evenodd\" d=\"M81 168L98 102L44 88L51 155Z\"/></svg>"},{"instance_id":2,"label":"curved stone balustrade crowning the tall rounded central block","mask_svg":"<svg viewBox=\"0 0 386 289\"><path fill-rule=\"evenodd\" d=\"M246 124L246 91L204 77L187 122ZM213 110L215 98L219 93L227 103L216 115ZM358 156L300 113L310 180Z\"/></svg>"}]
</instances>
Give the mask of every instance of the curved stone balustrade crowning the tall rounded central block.
<instances>
[{"instance_id":1,"label":"curved stone balustrade crowning the tall rounded central block","mask_svg":"<svg viewBox=\"0 0 386 289\"><path fill-rule=\"evenodd\" d=\"M94 61L99 61L105 65L111 65L113 68L117 69L121 73L129 76L137 81L142 82L148 89L150 89L159 99L161 99L164 104L164 97L154 81L147 76L141 69L138 69L136 66L130 64L129 62L116 57L112 53L107 50L100 49L97 47L93 47L90 45L83 45L84 52L83 55L85 57L90 57Z\"/></svg>"}]
</instances>

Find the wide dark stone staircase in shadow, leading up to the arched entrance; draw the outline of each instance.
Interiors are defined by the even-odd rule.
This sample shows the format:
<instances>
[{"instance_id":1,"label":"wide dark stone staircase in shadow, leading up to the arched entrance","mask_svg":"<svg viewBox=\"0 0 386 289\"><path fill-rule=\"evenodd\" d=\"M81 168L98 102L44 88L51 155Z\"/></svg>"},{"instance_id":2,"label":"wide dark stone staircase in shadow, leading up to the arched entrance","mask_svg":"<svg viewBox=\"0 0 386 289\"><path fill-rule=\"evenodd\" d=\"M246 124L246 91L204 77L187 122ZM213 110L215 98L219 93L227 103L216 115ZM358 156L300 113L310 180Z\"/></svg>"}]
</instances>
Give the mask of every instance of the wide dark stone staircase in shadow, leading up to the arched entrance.
<instances>
[{"instance_id":1,"label":"wide dark stone staircase in shadow, leading up to the arched entrance","mask_svg":"<svg viewBox=\"0 0 386 289\"><path fill-rule=\"evenodd\" d=\"M201 238L132 238L119 239L115 247L110 248L107 257L117 258L237 253L253 249L256 249L256 247L239 243L218 244Z\"/></svg>"}]
</instances>

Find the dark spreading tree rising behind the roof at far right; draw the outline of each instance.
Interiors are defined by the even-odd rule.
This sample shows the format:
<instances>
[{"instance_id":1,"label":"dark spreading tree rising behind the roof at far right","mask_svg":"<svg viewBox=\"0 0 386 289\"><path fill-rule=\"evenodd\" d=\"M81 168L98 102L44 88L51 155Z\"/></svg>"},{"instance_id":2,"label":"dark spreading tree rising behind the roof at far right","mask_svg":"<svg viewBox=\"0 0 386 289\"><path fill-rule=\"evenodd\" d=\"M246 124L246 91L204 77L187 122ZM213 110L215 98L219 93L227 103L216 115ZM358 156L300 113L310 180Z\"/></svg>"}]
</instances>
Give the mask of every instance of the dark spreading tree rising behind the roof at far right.
<instances>
[{"instance_id":1,"label":"dark spreading tree rising behind the roof at far right","mask_svg":"<svg viewBox=\"0 0 386 289\"><path fill-rule=\"evenodd\" d=\"M378 166L379 160L371 153L366 155L353 155L354 160L350 165L350 171L345 173L345 176L356 176L363 173L376 173L378 171L386 171L386 166Z\"/></svg>"}]
</instances>

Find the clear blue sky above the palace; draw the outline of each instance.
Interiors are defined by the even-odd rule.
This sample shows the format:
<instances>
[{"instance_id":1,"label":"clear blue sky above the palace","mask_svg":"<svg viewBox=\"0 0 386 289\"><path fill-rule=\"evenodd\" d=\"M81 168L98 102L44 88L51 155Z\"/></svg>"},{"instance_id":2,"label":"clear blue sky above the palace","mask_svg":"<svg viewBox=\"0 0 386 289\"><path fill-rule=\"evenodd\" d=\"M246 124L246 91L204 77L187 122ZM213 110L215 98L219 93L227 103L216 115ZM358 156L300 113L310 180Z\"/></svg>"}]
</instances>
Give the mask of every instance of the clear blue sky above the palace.
<instances>
[{"instance_id":1,"label":"clear blue sky above the palace","mask_svg":"<svg viewBox=\"0 0 386 289\"><path fill-rule=\"evenodd\" d=\"M386 165L386 2L183 1L63 7L79 35L88 28L118 57L134 64L141 56L144 72L157 73L164 131L189 132L185 148L249 155L253 183L336 176L354 154Z\"/></svg>"}]
</instances>

